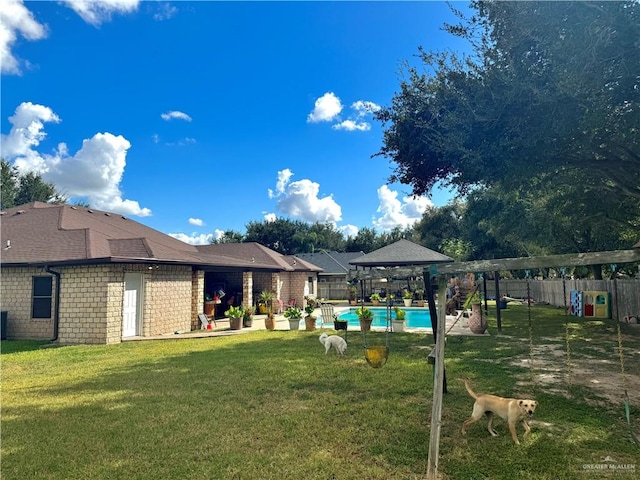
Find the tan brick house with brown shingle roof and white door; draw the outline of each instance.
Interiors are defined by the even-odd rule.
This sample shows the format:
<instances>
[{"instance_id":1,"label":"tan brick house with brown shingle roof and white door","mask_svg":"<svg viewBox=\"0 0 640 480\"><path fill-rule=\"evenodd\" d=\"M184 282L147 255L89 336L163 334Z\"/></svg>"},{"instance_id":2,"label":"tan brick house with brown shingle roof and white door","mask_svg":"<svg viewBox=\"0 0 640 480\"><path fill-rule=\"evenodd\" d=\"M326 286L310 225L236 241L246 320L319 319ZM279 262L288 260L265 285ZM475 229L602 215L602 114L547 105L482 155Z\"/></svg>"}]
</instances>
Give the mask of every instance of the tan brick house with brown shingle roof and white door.
<instances>
[{"instance_id":1,"label":"tan brick house with brown shingle roof and white door","mask_svg":"<svg viewBox=\"0 0 640 480\"><path fill-rule=\"evenodd\" d=\"M222 305L252 305L265 289L301 304L321 271L257 243L189 245L80 206L14 207L0 212L0 227L8 339L112 344L189 331L209 291L225 291Z\"/></svg>"}]
</instances>

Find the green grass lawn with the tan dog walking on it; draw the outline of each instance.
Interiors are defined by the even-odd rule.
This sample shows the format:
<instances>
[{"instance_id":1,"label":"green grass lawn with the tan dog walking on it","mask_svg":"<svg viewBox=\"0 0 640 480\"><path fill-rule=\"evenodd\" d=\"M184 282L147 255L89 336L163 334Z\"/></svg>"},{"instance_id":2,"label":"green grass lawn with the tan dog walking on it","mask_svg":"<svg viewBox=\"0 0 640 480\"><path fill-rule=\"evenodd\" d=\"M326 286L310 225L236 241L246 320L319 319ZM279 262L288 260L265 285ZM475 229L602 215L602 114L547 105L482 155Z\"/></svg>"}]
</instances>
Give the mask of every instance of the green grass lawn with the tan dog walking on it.
<instances>
[{"instance_id":1,"label":"green grass lawn with the tan dog walking on it","mask_svg":"<svg viewBox=\"0 0 640 480\"><path fill-rule=\"evenodd\" d=\"M637 478L615 322L571 317L567 358L562 310L531 313L533 349L521 306L502 311L502 335L490 318L491 336L449 337L442 477ZM325 356L318 335L59 348L3 341L2 479L424 478L433 385L430 348L420 347L432 337L392 334L388 363L373 369L358 332L346 358ZM636 434L639 339L639 330L623 331ZM501 420L498 437L484 420L461 436L473 404L464 377L476 392L535 397L528 440L516 446Z\"/></svg>"}]
</instances>

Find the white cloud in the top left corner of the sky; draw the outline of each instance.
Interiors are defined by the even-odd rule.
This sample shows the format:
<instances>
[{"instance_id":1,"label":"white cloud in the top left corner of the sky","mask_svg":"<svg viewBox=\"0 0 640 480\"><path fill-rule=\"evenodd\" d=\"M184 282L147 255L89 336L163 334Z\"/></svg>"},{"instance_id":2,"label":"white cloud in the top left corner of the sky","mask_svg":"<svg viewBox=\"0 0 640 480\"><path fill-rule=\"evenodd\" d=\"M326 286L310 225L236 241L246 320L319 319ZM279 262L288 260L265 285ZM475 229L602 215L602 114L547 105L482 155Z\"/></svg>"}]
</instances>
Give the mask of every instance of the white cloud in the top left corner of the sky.
<instances>
[{"instance_id":1,"label":"white cloud in the top left corner of the sky","mask_svg":"<svg viewBox=\"0 0 640 480\"><path fill-rule=\"evenodd\" d=\"M40 40L47 36L46 28L20 0L3 0L0 9L0 71L19 75L20 60L11 52L18 35L26 40Z\"/></svg>"}]
</instances>

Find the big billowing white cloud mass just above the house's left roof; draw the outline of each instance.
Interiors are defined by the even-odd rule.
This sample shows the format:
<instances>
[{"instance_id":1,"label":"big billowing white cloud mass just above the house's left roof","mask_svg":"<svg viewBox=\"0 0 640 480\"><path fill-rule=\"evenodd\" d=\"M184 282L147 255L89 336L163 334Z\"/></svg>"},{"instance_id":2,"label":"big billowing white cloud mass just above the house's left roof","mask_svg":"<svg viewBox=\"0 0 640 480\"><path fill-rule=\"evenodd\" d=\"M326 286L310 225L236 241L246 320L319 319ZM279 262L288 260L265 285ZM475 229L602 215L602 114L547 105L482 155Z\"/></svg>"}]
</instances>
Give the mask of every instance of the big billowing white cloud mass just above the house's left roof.
<instances>
[{"instance_id":1,"label":"big billowing white cloud mass just above the house's left roof","mask_svg":"<svg viewBox=\"0 0 640 480\"><path fill-rule=\"evenodd\" d=\"M141 208L138 202L122 198L119 185L131 147L122 135L96 133L83 140L75 155L69 155L65 143L46 154L36 150L46 137L44 123L60 121L49 107L22 103L9 121L11 131L0 136L0 152L20 172L40 173L64 195L85 197L94 208L141 217L151 215L151 210Z\"/></svg>"}]
</instances>

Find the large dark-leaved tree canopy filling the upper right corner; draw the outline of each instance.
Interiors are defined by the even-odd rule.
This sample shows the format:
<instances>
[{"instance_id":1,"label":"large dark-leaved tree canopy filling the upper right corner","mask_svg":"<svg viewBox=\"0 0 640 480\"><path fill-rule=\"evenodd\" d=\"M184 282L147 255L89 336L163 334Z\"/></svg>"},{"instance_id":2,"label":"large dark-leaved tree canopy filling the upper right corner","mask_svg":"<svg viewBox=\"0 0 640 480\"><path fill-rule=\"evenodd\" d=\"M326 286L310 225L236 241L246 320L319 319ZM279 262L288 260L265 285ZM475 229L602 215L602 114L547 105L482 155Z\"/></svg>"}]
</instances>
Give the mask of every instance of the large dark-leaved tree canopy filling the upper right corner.
<instances>
[{"instance_id":1,"label":"large dark-leaved tree canopy filling the upper right corner","mask_svg":"<svg viewBox=\"0 0 640 480\"><path fill-rule=\"evenodd\" d=\"M390 180L415 194L437 182L464 194L569 184L580 198L631 202L623 222L637 216L640 4L475 1L471 8L470 18L460 14L460 24L446 28L468 39L472 53L421 50L426 68L409 69L378 113L385 127L378 154L396 163Z\"/></svg>"}]
</instances>

